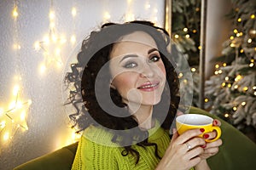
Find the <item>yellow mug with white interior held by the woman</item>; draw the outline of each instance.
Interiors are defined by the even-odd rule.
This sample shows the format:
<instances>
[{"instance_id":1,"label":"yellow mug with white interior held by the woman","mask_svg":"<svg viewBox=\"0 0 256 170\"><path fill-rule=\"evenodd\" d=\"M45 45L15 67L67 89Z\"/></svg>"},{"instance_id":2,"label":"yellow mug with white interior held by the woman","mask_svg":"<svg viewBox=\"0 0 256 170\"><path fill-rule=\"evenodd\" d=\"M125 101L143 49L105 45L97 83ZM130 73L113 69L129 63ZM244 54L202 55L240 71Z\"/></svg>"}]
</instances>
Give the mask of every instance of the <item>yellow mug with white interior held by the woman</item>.
<instances>
[{"instance_id":1,"label":"yellow mug with white interior held by the woman","mask_svg":"<svg viewBox=\"0 0 256 170\"><path fill-rule=\"evenodd\" d=\"M213 130L216 131L217 135L214 139L205 139L206 142L213 142L220 138L221 129L220 127L212 126L212 117L199 115L199 114L184 114L181 116L177 116L176 118L176 127L177 133L182 134L189 129L194 128L204 128L205 131L199 137L203 138L205 133L210 133Z\"/></svg>"}]
</instances>

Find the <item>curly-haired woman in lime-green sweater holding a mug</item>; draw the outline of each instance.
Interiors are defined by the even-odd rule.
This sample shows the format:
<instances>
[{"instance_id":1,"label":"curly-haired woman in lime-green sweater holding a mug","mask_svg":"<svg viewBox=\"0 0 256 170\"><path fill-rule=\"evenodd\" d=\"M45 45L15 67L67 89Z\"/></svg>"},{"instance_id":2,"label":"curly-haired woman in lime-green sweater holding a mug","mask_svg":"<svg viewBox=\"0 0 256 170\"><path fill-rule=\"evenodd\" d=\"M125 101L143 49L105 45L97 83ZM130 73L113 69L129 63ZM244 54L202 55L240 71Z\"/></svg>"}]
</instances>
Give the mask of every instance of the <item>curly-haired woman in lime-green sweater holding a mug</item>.
<instances>
[{"instance_id":1,"label":"curly-haired woman in lime-green sweater holding a mug","mask_svg":"<svg viewBox=\"0 0 256 170\"><path fill-rule=\"evenodd\" d=\"M108 23L84 40L66 77L77 108L70 117L84 130L73 169L210 169L221 139L206 144L202 128L169 133L180 101L169 43L147 21Z\"/></svg>"}]
</instances>

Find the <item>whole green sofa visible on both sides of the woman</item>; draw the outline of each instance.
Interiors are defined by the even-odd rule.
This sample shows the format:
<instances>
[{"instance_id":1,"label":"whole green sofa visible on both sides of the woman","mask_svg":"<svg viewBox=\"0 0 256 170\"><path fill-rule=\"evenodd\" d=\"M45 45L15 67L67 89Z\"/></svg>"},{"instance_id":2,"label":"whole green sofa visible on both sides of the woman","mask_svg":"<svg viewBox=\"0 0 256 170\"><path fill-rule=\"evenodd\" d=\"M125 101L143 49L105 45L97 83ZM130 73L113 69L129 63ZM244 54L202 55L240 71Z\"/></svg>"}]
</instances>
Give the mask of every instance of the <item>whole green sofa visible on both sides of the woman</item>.
<instances>
[{"instance_id":1,"label":"whole green sofa visible on both sides of the woman","mask_svg":"<svg viewBox=\"0 0 256 170\"><path fill-rule=\"evenodd\" d=\"M212 118L207 111L191 107L189 113L199 113ZM218 118L219 119L219 118ZM229 123L222 122L223 145L216 156L208 159L212 170L253 170L256 169L256 144L248 139L243 133L232 127ZM66 170L71 169L73 158L77 150L78 143L68 145L60 150L56 150L48 155L38 157L28 161L15 170Z\"/></svg>"}]
</instances>

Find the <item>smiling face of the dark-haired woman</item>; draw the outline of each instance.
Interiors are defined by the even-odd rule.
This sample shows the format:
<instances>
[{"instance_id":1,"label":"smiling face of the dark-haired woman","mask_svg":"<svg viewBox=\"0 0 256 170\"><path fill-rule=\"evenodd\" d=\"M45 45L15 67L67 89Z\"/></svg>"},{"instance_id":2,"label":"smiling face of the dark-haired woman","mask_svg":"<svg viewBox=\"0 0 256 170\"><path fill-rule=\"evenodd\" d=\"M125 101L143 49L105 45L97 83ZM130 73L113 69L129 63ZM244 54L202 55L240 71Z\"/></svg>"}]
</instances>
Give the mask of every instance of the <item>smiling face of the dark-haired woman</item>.
<instances>
[{"instance_id":1,"label":"smiling face of the dark-haired woman","mask_svg":"<svg viewBox=\"0 0 256 170\"><path fill-rule=\"evenodd\" d=\"M154 39L143 31L122 37L110 54L112 88L125 104L156 105L166 84L166 69Z\"/></svg>"}]
</instances>

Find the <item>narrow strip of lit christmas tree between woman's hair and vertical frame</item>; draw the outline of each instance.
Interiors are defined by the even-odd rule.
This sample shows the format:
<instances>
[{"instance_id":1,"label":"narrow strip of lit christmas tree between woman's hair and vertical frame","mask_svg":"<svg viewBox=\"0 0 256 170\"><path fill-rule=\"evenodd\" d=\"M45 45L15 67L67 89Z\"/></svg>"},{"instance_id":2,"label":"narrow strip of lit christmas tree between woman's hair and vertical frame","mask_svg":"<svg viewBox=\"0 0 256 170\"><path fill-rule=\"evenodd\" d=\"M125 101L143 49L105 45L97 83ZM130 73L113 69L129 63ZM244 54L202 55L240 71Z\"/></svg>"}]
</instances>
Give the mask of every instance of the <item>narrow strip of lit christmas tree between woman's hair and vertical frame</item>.
<instances>
[{"instance_id":1,"label":"narrow strip of lit christmas tree between woman's hair and vertical frame","mask_svg":"<svg viewBox=\"0 0 256 170\"><path fill-rule=\"evenodd\" d=\"M172 41L175 42L176 54L179 55L176 63L180 88L185 91L183 99L188 99L187 104L193 95L192 105L195 106L199 104L200 28L201 0L172 0ZM191 72L193 83L188 80Z\"/></svg>"}]
</instances>

